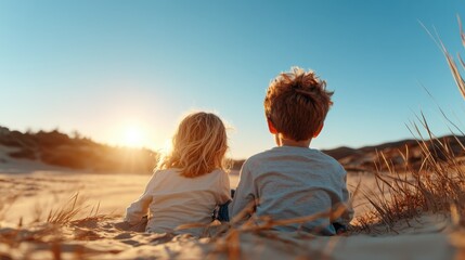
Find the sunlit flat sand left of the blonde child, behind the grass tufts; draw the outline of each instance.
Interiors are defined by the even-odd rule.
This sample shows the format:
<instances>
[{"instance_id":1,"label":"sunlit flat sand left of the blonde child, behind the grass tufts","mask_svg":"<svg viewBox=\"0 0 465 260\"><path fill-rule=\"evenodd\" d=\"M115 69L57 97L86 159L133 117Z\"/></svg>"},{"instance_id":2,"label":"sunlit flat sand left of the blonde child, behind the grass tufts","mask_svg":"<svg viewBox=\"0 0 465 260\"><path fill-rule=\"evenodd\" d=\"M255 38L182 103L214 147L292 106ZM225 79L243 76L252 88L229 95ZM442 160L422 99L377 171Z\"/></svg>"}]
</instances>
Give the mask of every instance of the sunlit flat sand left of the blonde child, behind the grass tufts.
<instances>
[{"instance_id":1,"label":"sunlit flat sand left of the blonde child, behind the grass tufts","mask_svg":"<svg viewBox=\"0 0 465 260\"><path fill-rule=\"evenodd\" d=\"M150 174L94 174L74 171L35 171L30 173L0 173L0 196L17 194L7 222L17 222L20 218L28 223L36 211L59 208L69 204L78 194L78 202L90 212L99 207L104 214L121 216L130 203L144 191ZM231 184L236 186L238 176L231 174ZM33 210L33 211L31 211Z\"/></svg>"}]
</instances>

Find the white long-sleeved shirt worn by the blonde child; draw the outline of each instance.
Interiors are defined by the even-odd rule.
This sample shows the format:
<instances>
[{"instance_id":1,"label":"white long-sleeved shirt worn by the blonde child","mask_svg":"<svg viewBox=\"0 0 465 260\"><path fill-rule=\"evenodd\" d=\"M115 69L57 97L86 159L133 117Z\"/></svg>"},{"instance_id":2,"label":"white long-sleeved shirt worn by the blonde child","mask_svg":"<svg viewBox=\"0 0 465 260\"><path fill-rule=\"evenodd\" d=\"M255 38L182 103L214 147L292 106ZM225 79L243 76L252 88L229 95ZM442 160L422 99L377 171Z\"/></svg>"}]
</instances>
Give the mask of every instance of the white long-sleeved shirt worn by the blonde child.
<instances>
[{"instance_id":1,"label":"white long-sleeved shirt worn by the blonde child","mask_svg":"<svg viewBox=\"0 0 465 260\"><path fill-rule=\"evenodd\" d=\"M186 178L179 169L158 170L145 192L126 209L125 220L139 223L148 213L146 232L165 233L186 223L208 224L216 205L231 199L228 173L215 170L201 177ZM201 235L201 230L178 231Z\"/></svg>"}]
</instances>

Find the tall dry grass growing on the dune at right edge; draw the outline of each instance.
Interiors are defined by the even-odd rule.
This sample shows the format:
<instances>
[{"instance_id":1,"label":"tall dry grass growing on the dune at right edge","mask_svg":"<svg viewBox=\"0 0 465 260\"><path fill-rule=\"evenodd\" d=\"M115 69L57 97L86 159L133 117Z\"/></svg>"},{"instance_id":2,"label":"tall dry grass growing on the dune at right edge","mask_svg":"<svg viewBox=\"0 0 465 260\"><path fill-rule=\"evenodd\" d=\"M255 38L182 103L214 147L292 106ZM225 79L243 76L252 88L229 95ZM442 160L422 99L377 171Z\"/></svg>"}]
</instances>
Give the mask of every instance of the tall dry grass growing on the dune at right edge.
<instances>
[{"instance_id":1,"label":"tall dry grass growing on the dune at right edge","mask_svg":"<svg viewBox=\"0 0 465 260\"><path fill-rule=\"evenodd\" d=\"M462 44L465 48L465 32L458 17ZM426 27L425 27L426 29ZM452 76L456 82L460 93L465 99L465 81L461 75L452 55L448 52L439 37L426 29L435 42L442 51ZM462 69L465 63L457 56ZM428 92L429 93L429 92ZM439 108L449 123L462 135L464 132L451 121ZM380 169L382 165L387 166L388 172L377 170L377 191L364 191L364 197L369 200L373 210L365 216L358 218L360 225L356 231L363 232L396 232L393 224L405 221L410 225L410 220L424 212L442 212L451 216L452 222L460 226L465 226L465 158L457 157L451 150L448 140L439 140L431 132L425 116L417 117L418 123L413 122L409 128L411 133L422 147L422 166L415 170L409 165L409 148L399 151L405 161L403 172L399 172L391 167L391 161L384 154L378 155L375 164ZM448 127L449 128L449 127ZM425 134L422 133L426 131ZM449 128L451 130L451 128ZM452 132L452 130L451 130ZM455 141L465 151L465 145L455 136ZM379 230L377 227L382 226Z\"/></svg>"}]
</instances>

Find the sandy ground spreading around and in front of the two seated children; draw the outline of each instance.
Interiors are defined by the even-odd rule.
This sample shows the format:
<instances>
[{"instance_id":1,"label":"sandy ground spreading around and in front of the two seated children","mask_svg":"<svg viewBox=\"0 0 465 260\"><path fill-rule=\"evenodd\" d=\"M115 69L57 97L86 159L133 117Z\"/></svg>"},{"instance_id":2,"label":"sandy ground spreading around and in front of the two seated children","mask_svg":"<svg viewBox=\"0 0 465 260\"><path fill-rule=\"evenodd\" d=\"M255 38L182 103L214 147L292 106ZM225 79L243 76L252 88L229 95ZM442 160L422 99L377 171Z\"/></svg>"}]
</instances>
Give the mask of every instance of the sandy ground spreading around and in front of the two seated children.
<instances>
[{"instance_id":1,"label":"sandy ground spreading around and in front of the two seated children","mask_svg":"<svg viewBox=\"0 0 465 260\"><path fill-rule=\"evenodd\" d=\"M1 156L0 156L1 157ZM37 170L39 169L39 170ZM231 185L236 186L237 172ZM314 237L308 234L237 232L234 236L195 238L145 234L121 227L125 208L143 192L148 174L93 174L22 160L0 162L0 259L461 259L465 234L441 216L399 223L400 234ZM370 173L349 174L349 190ZM78 193L83 209L61 225L43 224ZM14 200L13 198L15 197ZM367 210L356 198L356 212ZM107 217L95 217L99 214ZM21 220L21 221L20 221ZM39 220L39 223L31 223ZM216 234L217 227L210 234Z\"/></svg>"}]
</instances>

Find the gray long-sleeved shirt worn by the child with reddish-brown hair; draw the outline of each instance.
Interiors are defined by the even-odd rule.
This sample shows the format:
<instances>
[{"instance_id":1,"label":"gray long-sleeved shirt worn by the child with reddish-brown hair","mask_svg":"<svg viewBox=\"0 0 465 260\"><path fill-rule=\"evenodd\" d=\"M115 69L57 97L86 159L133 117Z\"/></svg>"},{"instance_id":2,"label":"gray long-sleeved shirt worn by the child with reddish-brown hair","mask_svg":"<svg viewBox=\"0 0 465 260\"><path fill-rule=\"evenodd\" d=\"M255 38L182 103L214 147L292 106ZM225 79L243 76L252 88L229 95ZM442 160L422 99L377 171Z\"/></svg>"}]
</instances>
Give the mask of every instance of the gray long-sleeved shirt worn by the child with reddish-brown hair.
<instances>
[{"instance_id":1,"label":"gray long-sleeved shirt worn by the child with reddish-brown hair","mask_svg":"<svg viewBox=\"0 0 465 260\"><path fill-rule=\"evenodd\" d=\"M327 211L348 200L346 171L337 160L318 150L280 146L245 161L229 212L234 218L255 205L257 217L285 220ZM333 222L348 224L352 213L349 209ZM274 230L335 234L330 218Z\"/></svg>"}]
</instances>

